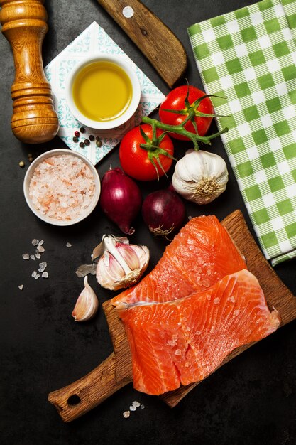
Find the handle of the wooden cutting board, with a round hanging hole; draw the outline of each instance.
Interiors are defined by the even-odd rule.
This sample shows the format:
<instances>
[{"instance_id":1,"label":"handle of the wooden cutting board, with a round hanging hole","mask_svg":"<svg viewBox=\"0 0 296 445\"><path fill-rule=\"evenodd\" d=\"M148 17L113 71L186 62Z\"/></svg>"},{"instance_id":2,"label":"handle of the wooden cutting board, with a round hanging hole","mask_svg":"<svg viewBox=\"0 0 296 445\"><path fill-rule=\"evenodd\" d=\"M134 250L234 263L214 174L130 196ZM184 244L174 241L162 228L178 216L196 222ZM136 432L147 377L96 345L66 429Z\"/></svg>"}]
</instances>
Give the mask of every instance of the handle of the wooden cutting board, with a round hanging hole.
<instances>
[{"instance_id":1,"label":"handle of the wooden cutting board, with a round hanging hole","mask_svg":"<svg viewBox=\"0 0 296 445\"><path fill-rule=\"evenodd\" d=\"M71 385L50 392L48 400L55 405L64 422L71 422L132 380L131 360L112 353L89 374Z\"/></svg>"}]
</instances>

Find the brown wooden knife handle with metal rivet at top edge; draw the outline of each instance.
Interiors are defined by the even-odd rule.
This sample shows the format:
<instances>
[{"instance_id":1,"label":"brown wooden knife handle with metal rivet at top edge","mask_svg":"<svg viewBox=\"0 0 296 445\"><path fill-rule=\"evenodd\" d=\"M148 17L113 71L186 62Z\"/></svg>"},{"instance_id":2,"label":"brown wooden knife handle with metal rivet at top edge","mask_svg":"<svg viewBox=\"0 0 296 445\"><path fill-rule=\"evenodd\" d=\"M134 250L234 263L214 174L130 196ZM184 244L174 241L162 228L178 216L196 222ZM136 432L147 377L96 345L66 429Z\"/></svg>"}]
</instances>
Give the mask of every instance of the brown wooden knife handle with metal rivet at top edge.
<instances>
[{"instance_id":1,"label":"brown wooden knife handle with metal rivet at top edge","mask_svg":"<svg viewBox=\"0 0 296 445\"><path fill-rule=\"evenodd\" d=\"M141 1L97 1L146 55L168 86L175 85L187 67L187 54L168 26Z\"/></svg>"}]
</instances>

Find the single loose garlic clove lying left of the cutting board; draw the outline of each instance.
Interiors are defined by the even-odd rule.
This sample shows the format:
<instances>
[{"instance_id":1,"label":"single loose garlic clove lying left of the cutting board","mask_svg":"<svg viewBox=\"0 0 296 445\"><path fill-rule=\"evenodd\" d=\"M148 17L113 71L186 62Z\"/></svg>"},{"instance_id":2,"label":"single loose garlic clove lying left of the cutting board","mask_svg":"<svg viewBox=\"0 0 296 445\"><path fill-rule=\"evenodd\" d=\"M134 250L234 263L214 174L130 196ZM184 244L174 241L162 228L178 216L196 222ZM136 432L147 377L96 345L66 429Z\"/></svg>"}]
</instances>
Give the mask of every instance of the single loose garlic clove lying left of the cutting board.
<instances>
[{"instance_id":1,"label":"single loose garlic clove lying left of the cutting board","mask_svg":"<svg viewBox=\"0 0 296 445\"><path fill-rule=\"evenodd\" d=\"M98 307L99 300L91 286L89 286L86 276L84 277L84 289L76 301L72 317L75 318L75 321L87 321L94 316Z\"/></svg>"}]
</instances>

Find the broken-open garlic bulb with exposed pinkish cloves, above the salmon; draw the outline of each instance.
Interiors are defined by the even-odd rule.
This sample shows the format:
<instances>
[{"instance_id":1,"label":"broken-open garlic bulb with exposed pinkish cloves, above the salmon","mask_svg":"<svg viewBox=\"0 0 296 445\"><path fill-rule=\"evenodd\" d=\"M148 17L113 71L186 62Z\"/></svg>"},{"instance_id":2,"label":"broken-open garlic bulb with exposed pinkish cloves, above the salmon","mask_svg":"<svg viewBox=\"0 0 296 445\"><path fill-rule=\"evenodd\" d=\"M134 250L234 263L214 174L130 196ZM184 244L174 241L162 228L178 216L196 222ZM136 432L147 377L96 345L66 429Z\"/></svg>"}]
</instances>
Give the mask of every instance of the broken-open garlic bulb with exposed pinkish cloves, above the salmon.
<instances>
[{"instance_id":1,"label":"broken-open garlic bulb with exposed pinkish cloves, above the salmon","mask_svg":"<svg viewBox=\"0 0 296 445\"><path fill-rule=\"evenodd\" d=\"M129 244L126 237L104 235L94 249L93 259L102 255L97 264L97 281L106 289L118 290L133 286L146 270L149 250L146 246Z\"/></svg>"}]
</instances>

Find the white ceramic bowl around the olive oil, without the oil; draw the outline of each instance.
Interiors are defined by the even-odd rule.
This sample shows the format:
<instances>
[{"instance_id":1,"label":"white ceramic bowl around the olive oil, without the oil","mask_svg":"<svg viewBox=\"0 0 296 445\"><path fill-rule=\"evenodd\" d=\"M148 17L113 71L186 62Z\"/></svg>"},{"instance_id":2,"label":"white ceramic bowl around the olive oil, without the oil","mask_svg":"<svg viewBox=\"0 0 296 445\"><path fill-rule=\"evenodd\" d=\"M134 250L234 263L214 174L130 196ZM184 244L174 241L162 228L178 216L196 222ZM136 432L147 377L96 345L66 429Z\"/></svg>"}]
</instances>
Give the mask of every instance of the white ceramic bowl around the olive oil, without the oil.
<instances>
[{"instance_id":1,"label":"white ceramic bowl around the olive oil, without the oil","mask_svg":"<svg viewBox=\"0 0 296 445\"><path fill-rule=\"evenodd\" d=\"M107 61L118 65L122 70L124 70L126 75L128 75L129 79L131 80L131 86L133 89L131 103L128 105L125 112L123 112L119 117L106 121L96 121L84 116L84 114L82 114L80 110L77 109L72 95L73 83L75 81L75 77L78 75L78 73L80 73L80 70L82 70L85 66L98 61ZM75 68L73 68L73 70L70 72L70 75L68 75L67 77L65 86L65 97L70 111L79 122L93 129L113 129L119 127L119 125L124 124L136 112L141 99L141 86L138 80L138 76L136 75L133 68L131 68L131 65L128 64L128 62L125 60L125 58L123 58L121 55L109 55L100 53L89 55L87 58L84 58L79 63L77 63L77 65L75 65Z\"/></svg>"}]
</instances>

